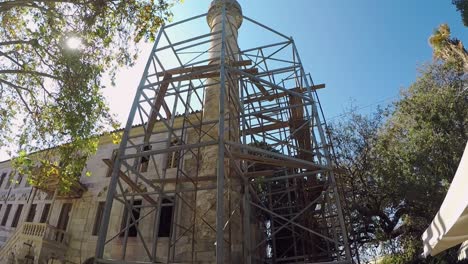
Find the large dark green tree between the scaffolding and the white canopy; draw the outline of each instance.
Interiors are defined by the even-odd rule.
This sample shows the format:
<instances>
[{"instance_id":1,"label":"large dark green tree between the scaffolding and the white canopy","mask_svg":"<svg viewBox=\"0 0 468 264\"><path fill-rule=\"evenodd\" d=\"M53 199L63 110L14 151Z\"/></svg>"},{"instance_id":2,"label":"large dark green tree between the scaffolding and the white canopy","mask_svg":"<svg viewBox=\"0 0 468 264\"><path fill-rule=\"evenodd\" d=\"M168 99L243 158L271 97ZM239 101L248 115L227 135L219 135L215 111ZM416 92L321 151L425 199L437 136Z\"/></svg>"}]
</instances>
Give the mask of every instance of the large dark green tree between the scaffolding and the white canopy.
<instances>
[{"instance_id":1,"label":"large dark green tree between the scaffolding and the white canopy","mask_svg":"<svg viewBox=\"0 0 468 264\"><path fill-rule=\"evenodd\" d=\"M348 217L360 245L392 263L421 263L421 234L436 215L468 141L468 76L435 61L387 113L335 125ZM430 263L454 263L449 250ZM431 262L432 261L432 262ZM448 261L448 262L447 262Z\"/></svg>"}]
</instances>

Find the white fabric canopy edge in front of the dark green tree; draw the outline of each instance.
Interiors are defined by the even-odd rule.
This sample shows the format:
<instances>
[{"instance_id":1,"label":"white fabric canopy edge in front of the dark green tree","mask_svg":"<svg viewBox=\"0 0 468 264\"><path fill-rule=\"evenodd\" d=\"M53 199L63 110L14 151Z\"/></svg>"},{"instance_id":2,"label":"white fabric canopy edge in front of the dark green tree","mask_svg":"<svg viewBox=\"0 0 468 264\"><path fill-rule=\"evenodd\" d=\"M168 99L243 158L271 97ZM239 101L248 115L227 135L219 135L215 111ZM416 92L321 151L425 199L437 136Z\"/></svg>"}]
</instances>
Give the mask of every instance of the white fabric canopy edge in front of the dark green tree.
<instances>
[{"instance_id":1,"label":"white fabric canopy edge in front of the dark green tree","mask_svg":"<svg viewBox=\"0 0 468 264\"><path fill-rule=\"evenodd\" d=\"M468 240L468 144L444 202L422 240L424 257L435 256Z\"/></svg>"}]
</instances>

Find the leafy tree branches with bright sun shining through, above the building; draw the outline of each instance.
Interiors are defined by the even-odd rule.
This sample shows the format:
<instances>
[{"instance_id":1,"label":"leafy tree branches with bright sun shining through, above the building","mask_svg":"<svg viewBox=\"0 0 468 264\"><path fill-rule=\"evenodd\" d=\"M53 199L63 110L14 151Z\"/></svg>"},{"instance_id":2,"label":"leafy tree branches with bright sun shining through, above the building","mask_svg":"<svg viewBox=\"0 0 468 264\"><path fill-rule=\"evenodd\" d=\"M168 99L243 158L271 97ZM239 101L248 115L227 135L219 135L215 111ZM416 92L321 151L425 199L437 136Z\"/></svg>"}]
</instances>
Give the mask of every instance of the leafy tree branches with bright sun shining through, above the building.
<instances>
[{"instance_id":1,"label":"leafy tree branches with bright sun shining through, above the building","mask_svg":"<svg viewBox=\"0 0 468 264\"><path fill-rule=\"evenodd\" d=\"M154 39L171 18L171 5L169 0L0 3L0 147L18 149L20 172L60 161L64 179L81 174L98 135L118 126L101 94L103 76L113 79L117 67L133 63L135 43Z\"/></svg>"}]
</instances>

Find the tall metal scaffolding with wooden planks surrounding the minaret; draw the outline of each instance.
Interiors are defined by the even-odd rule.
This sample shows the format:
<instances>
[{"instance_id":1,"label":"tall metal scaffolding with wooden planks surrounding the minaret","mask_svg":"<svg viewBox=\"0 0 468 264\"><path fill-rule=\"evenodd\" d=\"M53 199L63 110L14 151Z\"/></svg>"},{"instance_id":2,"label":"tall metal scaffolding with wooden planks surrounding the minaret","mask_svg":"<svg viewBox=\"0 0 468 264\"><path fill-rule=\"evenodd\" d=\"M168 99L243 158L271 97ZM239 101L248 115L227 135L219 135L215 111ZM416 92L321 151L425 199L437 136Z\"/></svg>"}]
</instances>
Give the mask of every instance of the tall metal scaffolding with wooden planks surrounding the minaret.
<instances>
[{"instance_id":1,"label":"tall metal scaffolding with wooden planks surrounding the minaret","mask_svg":"<svg viewBox=\"0 0 468 264\"><path fill-rule=\"evenodd\" d=\"M325 85L292 38L215 2L159 31L116 159L105 160L96 262L351 263L316 92ZM184 30L205 19L206 33ZM241 23L269 42L239 48Z\"/></svg>"}]
</instances>

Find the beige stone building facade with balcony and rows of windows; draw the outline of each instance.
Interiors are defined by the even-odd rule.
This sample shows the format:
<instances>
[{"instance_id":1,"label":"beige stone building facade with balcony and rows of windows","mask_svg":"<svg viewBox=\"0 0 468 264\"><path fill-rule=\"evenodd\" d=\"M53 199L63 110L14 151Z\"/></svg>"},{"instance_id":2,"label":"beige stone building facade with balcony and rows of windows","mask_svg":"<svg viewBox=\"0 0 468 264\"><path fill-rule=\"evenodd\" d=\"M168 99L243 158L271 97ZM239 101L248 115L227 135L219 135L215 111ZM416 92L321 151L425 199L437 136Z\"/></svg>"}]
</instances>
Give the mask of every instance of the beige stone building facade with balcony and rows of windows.
<instances>
[{"instance_id":1,"label":"beige stone building facade with balcony and rows of windows","mask_svg":"<svg viewBox=\"0 0 468 264\"><path fill-rule=\"evenodd\" d=\"M135 134L142 131L141 127L134 130ZM154 149L157 147L154 146ZM59 196L54 200L53 193L41 190L37 190L33 195L34 188L28 184L25 177L15 173L11 161L1 162L0 263L84 263L93 257L111 175L111 169L103 160L115 158L117 148L118 145L112 143L110 136L101 138L96 154L86 165L86 170L91 172L91 176L86 176L83 171L79 179L86 189L79 198ZM159 162L166 163L170 174L177 164L176 155ZM154 168L146 168L146 171L145 173L154 173ZM168 199L164 202L165 209L160 216L158 227L161 244L164 244L164 237L169 236L172 211L176 210L173 200ZM141 197L136 198L134 204L138 203L144 205L146 201ZM138 218L138 214L145 214L145 209L142 208L140 212L133 214ZM116 206L112 212L110 229L118 233L122 221L127 218L126 215L128 212L124 206ZM149 217L140 225L144 226L147 224L145 222L153 222L153 219ZM136 243L138 235L135 229L129 230L129 255L139 256L142 250L142 246ZM113 243L113 252L107 253L121 254L119 240Z\"/></svg>"}]
</instances>

